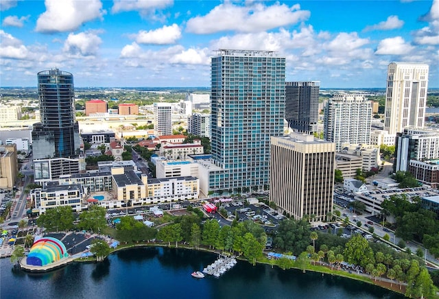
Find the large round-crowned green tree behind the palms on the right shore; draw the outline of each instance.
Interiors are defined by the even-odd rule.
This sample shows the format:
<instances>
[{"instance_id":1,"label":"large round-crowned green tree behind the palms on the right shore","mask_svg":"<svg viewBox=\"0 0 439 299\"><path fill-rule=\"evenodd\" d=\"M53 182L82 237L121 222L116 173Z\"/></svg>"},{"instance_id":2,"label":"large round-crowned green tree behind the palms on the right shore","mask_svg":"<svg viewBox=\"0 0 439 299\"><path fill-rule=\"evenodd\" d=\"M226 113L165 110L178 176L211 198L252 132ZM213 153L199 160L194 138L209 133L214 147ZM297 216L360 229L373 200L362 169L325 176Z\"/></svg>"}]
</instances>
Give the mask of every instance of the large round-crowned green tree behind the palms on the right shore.
<instances>
[{"instance_id":1,"label":"large round-crowned green tree behind the palms on the right shore","mask_svg":"<svg viewBox=\"0 0 439 299\"><path fill-rule=\"evenodd\" d=\"M374 254L370 248L369 242L361 237L361 235L354 235L344 248L344 259L348 263L361 265L366 267L368 263L374 263Z\"/></svg>"}]
</instances>

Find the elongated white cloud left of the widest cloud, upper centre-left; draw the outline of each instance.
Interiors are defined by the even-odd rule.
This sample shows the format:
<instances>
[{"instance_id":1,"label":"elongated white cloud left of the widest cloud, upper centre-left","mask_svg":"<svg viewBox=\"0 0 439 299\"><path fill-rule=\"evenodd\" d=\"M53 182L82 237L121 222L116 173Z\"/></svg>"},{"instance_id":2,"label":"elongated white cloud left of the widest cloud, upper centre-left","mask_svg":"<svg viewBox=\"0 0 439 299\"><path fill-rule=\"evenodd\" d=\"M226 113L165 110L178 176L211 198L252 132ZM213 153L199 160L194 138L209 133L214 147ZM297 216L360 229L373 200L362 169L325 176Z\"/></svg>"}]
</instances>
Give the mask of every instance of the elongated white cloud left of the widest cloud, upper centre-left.
<instances>
[{"instance_id":1,"label":"elongated white cloud left of the widest cloud, upper centre-left","mask_svg":"<svg viewBox=\"0 0 439 299\"><path fill-rule=\"evenodd\" d=\"M135 37L139 44L169 45L176 43L181 38L181 29L177 24L174 24L150 31L141 30L132 37Z\"/></svg>"}]
</instances>

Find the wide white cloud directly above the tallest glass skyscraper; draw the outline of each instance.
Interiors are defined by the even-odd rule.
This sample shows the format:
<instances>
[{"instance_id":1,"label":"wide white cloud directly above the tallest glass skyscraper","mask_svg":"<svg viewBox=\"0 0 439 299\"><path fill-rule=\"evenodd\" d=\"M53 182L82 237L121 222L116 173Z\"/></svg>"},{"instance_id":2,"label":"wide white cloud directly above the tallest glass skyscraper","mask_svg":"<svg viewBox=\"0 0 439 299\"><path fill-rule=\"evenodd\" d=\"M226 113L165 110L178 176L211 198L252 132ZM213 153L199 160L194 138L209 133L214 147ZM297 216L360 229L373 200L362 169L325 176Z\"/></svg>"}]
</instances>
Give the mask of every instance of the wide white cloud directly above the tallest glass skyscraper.
<instances>
[{"instance_id":1,"label":"wide white cloud directly above the tallest glass skyscraper","mask_svg":"<svg viewBox=\"0 0 439 299\"><path fill-rule=\"evenodd\" d=\"M187 22L187 31L195 34L211 34L222 31L261 32L276 27L296 24L309 19L310 12L300 10L300 5L274 3L248 3L237 6L226 2L217 5L206 16L195 16Z\"/></svg>"}]
</instances>

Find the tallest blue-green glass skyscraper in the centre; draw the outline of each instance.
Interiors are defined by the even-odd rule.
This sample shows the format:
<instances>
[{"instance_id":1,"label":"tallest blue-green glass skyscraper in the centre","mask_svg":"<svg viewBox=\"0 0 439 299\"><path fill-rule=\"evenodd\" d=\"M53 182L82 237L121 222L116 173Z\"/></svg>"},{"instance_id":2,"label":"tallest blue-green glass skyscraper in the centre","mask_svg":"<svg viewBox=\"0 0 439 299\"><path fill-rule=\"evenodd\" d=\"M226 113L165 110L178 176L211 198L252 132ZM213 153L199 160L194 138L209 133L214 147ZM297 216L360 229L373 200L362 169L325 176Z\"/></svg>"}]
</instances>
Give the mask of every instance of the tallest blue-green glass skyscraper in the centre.
<instances>
[{"instance_id":1,"label":"tallest blue-green glass skyscraper in the centre","mask_svg":"<svg viewBox=\"0 0 439 299\"><path fill-rule=\"evenodd\" d=\"M220 49L211 61L209 191L268 189L270 137L283 136L285 58Z\"/></svg>"}]
</instances>

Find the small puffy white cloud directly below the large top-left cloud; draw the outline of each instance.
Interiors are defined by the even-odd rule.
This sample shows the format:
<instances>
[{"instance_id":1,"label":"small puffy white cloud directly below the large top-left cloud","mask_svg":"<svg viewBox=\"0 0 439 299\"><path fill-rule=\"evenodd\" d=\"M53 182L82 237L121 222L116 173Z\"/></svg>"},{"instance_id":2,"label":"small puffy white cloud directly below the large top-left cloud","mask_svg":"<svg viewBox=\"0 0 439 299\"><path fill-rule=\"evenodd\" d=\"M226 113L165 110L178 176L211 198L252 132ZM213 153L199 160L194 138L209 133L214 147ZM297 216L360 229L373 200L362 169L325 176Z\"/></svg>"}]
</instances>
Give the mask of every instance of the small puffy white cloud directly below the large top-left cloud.
<instances>
[{"instance_id":1,"label":"small puffy white cloud directly below the large top-left cloud","mask_svg":"<svg viewBox=\"0 0 439 299\"><path fill-rule=\"evenodd\" d=\"M94 32L69 34L63 51L72 56L95 56L102 40Z\"/></svg>"}]
</instances>

